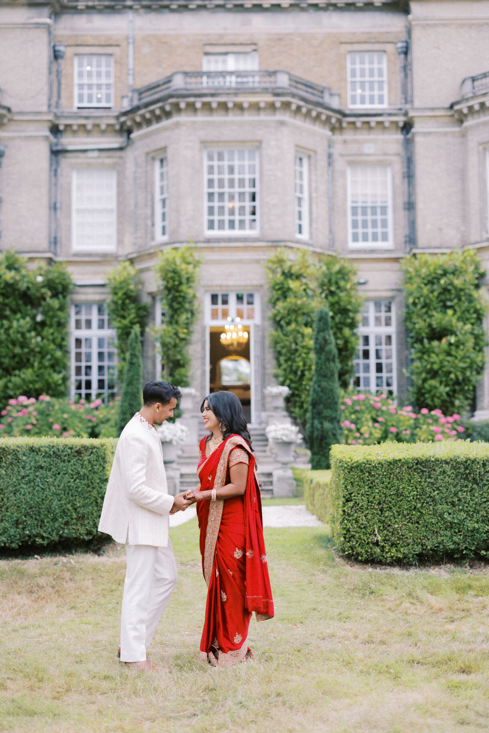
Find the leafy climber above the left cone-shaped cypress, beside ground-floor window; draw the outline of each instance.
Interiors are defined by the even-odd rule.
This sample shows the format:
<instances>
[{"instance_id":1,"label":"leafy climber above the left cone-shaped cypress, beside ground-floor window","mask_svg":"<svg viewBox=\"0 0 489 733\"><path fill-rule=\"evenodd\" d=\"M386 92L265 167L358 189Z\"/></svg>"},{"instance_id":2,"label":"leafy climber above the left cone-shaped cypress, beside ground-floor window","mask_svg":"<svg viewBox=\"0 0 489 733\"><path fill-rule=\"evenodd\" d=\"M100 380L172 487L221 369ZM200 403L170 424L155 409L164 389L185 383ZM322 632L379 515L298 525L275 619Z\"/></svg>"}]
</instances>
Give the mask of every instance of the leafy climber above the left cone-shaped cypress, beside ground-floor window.
<instances>
[{"instance_id":1,"label":"leafy climber above the left cone-shaped cypress, beside ground-floor window","mask_svg":"<svg viewBox=\"0 0 489 733\"><path fill-rule=\"evenodd\" d=\"M132 262L121 262L107 276L109 284L109 319L117 331L117 374L122 383L128 358L129 336L135 325L141 334L146 329L148 303L141 303L141 283Z\"/></svg>"}]
</instances>

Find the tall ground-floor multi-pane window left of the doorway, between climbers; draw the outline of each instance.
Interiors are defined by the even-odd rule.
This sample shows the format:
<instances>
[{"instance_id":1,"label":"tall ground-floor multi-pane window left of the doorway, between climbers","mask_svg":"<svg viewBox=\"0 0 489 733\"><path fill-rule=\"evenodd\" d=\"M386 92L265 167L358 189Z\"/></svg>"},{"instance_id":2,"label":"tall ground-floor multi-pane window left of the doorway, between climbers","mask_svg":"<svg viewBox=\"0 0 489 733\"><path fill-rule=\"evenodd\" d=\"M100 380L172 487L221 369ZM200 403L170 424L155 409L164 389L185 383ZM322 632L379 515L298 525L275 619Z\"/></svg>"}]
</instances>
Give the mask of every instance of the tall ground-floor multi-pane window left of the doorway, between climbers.
<instances>
[{"instance_id":1,"label":"tall ground-floor multi-pane window left of the doorway, between climbers","mask_svg":"<svg viewBox=\"0 0 489 733\"><path fill-rule=\"evenodd\" d=\"M117 390L116 332L105 303L76 303L71 324L71 383L76 399L113 399Z\"/></svg>"}]
</instances>

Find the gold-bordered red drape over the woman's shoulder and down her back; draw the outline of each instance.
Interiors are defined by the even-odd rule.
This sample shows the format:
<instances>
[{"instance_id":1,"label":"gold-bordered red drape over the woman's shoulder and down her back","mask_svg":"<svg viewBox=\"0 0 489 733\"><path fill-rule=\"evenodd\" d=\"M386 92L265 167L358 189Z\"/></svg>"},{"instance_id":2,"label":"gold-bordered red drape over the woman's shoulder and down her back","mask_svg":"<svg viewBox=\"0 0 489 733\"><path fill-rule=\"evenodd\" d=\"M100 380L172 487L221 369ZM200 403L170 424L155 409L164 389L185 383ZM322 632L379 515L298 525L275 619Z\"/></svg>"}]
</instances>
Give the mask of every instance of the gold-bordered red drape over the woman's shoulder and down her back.
<instances>
[{"instance_id":1,"label":"gold-bordered red drape over the woman's shoulder and down her back","mask_svg":"<svg viewBox=\"0 0 489 733\"><path fill-rule=\"evenodd\" d=\"M273 599L268 577L265 540L263 539L262 502L260 487L255 474L254 455L248 443L240 435L229 435L221 445L210 454L197 468L200 490L207 491L224 486L228 470L229 453L240 447L249 455L248 479L244 493L244 519L246 539L246 608L255 611L257 621L273 618ZM201 443L205 455L205 439ZM217 501L197 501L199 516L200 551L202 570L207 586L213 567L214 551L221 524L224 505L223 499Z\"/></svg>"}]
</instances>

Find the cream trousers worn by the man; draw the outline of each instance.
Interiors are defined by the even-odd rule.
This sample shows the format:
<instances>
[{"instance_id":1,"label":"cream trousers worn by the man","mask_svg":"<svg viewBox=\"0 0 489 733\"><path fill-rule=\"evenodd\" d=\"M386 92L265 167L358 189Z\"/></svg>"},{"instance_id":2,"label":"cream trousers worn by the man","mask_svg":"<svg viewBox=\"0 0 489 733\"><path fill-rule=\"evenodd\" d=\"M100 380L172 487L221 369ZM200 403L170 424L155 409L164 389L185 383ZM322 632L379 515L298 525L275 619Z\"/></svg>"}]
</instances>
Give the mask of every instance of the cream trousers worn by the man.
<instances>
[{"instance_id":1,"label":"cream trousers worn by the man","mask_svg":"<svg viewBox=\"0 0 489 733\"><path fill-rule=\"evenodd\" d=\"M142 662L177 585L177 566L170 540L166 548L126 545L125 554L120 659L122 662Z\"/></svg>"}]
</instances>

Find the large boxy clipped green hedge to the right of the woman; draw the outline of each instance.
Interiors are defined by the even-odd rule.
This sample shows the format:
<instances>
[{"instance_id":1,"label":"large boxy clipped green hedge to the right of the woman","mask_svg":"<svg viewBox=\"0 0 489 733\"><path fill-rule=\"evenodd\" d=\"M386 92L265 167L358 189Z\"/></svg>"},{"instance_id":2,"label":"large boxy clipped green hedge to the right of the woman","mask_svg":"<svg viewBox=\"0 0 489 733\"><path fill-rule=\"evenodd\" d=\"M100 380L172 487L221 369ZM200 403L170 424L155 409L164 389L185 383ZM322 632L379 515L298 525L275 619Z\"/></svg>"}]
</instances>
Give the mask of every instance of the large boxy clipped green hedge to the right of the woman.
<instances>
[{"instance_id":1,"label":"large boxy clipped green hedge to the right of the woman","mask_svg":"<svg viewBox=\"0 0 489 733\"><path fill-rule=\"evenodd\" d=\"M489 445L332 446L337 548L361 561L489 556Z\"/></svg>"}]
</instances>

